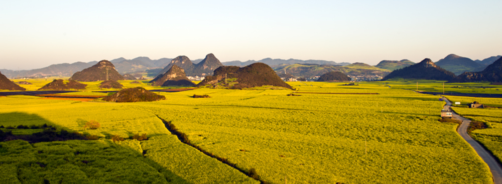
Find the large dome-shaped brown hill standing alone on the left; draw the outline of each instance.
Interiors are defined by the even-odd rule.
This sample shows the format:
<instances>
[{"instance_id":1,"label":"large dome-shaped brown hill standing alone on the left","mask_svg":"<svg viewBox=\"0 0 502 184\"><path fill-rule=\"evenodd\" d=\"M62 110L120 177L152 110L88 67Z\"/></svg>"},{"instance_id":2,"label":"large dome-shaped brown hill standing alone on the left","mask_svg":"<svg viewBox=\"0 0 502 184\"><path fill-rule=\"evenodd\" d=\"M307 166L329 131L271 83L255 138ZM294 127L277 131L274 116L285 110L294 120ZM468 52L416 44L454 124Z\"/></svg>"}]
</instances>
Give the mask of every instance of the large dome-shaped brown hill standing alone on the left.
<instances>
[{"instance_id":1,"label":"large dome-shaped brown hill standing alone on the left","mask_svg":"<svg viewBox=\"0 0 502 184\"><path fill-rule=\"evenodd\" d=\"M123 80L124 77L115 70L115 66L108 60L101 60L91 67L78 71L70 77L76 81Z\"/></svg>"}]
</instances>

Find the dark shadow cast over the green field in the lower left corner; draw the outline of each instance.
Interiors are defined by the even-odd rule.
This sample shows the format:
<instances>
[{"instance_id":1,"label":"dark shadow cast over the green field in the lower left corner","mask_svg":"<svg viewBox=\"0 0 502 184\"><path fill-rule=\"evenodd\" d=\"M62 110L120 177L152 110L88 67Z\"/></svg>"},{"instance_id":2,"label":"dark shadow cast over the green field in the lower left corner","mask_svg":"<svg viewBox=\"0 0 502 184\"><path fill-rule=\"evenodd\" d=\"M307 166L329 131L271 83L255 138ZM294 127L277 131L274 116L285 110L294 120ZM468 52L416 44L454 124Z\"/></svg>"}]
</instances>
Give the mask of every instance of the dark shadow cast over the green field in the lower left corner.
<instances>
[{"instance_id":1,"label":"dark shadow cast over the green field in the lower left corner","mask_svg":"<svg viewBox=\"0 0 502 184\"><path fill-rule=\"evenodd\" d=\"M77 123L79 125L81 123L85 123L85 120L83 119L78 119ZM35 170L39 169L38 167L34 167L31 165L39 165L40 167L46 167L48 163L51 165L56 165L54 167L50 167L51 169L53 168L58 168L60 166L60 163L65 163L66 165L70 164L73 167L87 167L87 169L80 169L81 172L85 172L87 170L98 170L100 172L106 172L108 175L118 175L121 176L123 173L127 173L128 171L136 171L138 173L141 173L142 170L140 167L138 168L132 168L128 169L127 166L134 165L135 162L132 162L130 165L124 164L123 162L120 162L122 159L128 159L127 156L133 156L133 157L141 157L141 161L146 163L148 166L155 168L157 172L159 172L162 176L164 176L165 182L163 183L190 183L189 181L185 180L181 176L177 175L173 171L165 168L162 166L160 163L145 157L144 154L146 150L138 152L138 150L133 149L129 146L123 146L123 145L116 145L113 143L111 140L110 141L102 141L102 140L85 140L85 136L82 137L73 137L73 138L68 138L64 139L61 138L61 135L73 135L73 132L68 132L67 130L62 130L63 127L59 126L56 127L56 124L53 122L37 115L37 114L29 114L25 112L10 112L10 113L0 113L0 126L3 126L0 128L0 130L17 130L20 129L20 125L22 125L24 130L30 130L34 129L43 129L40 132L35 132L30 135L12 135L12 139L6 139L6 141L3 140L3 135L4 132L0 131L0 152L2 152L2 157L3 158L10 158L8 160L17 160L18 156L18 151L22 151L21 149L33 149L29 150L30 155L35 158L35 160L32 160L30 164L25 164L24 162L13 162L11 165L16 167L15 170L22 169L22 170L29 170L30 172L35 172ZM57 128L57 129L56 129ZM43 133L43 134L42 134ZM42 134L42 135L41 135ZM76 133L75 135L81 135ZM38 137L42 136L42 137ZM49 138L47 138L49 136ZM108 134L107 137L110 135ZM36 137L38 139L34 140L33 137ZM58 138L59 137L59 138ZM66 136L65 136L66 137ZM66 137L67 138L67 137ZM17 139L17 140L16 140ZM22 139L22 140L21 140ZM25 139L29 139L28 141ZM58 141L54 141L58 140ZM59 141L61 140L61 141ZM69 140L69 141L65 141ZM82 141L82 143L78 143L77 141ZM33 142L39 142L39 143L33 143ZM85 143L84 143L85 142ZM2 148L3 146L7 146L7 144L12 144L13 147L12 149L7 149L7 148ZM88 146L89 144L106 144L105 146ZM30 144L31 146L23 146L23 144ZM35 149L33 145L38 145L38 149ZM42 146L43 145L43 146ZM62 145L71 145L70 147L68 146L63 146ZM86 146L87 145L87 146ZM89 149L90 147L90 149ZM44 150L42 150L44 149ZM47 151L45 150L47 149ZM54 152L51 152L49 150L56 150L58 149L58 153L65 153L67 156L69 156L69 159L66 157L57 157L52 154ZM108 149L108 150L105 150ZM127 154L124 154L123 151L120 150L127 149ZM12 152L9 152L9 150L15 150ZM38 152L37 152L38 150ZM73 151L73 153L71 152ZM34 154L32 155L32 153ZM98 153L96 153L98 152ZM101 155L101 153L109 153L110 155ZM70 154L68 154L70 153ZM116 153L116 154L115 154ZM122 155L123 154L123 155ZM44 157L49 155L49 157ZM14 159L13 157L16 157ZM118 157L118 158L116 158ZM137 158L136 158L137 159ZM70 161L69 161L70 160ZM96 161L97 160L97 161ZM106 165L103 168L101 167L96 167L96 164L89 164L88 163L93 163L96 161L96 163L100 162L100 160L115 160L114 162L110 162L113 164L118 164L116 168L114 168L114 165ZM32 168L33 167L33 168ZM49 169L49 167L46 167L46 169ZM57 169L54 170L48 170L48 172L42 173L42 174L33 174L29 175L30 179L34 179L37 181L44 181L44 182L49 182L49 183L57 183L61 181L66 181L67 179L71 179L72 177L57 177L56 178L51 178L50 176L54 175L59 175ZM94 173L86 173L86 174L94 174ZM106 175L105 174L105 175ZM2 173L0 173L0 177L2 177ZM23 176L17 176L18 180L24 180L27 177L26 175ZM128 177L129 178L129 177ZM119 183L121 182L120 178L110 178L112 179L112 182ZM134 178L130 178L133 181L134 179L137 179L136 176ZM137 181L137 180L136 180Z\"/></svg>"}]
</instances>

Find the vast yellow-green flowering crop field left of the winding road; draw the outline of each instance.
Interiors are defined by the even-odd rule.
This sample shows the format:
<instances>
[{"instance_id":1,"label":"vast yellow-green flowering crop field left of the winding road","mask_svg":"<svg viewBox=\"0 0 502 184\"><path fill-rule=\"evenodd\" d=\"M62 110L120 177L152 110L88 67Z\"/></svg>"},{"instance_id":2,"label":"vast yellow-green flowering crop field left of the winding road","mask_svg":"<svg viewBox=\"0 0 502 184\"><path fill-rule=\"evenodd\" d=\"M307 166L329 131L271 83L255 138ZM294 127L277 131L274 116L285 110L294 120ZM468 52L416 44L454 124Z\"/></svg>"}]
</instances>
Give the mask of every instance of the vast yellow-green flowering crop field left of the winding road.
<instances>
[{"instance_id":1,"label":"vast yellow-green flowering crop field left of the winding road","mask_svg":"<svg viewBox=\"0 0 502 184\"><path fill-rule=\"evenodd\" d=\"M288 83L297 92L312 93L287 96L295 91L274 87L200 88L159 92L166 100L136 103L2 97L0 125L47 123L97 135L99 140L3 142L1 159L19 158L19 151L9 148L16 146L33 155L26 161L0 161L5 168L1 174L21 183L52 183L59 182L61 170L73 168L82 180L115 182L111 178L128 177L113 168L134 167L126 173L142 170L145 180L130 182L144 183L259 183L241 172L250 170L270 183L492 183L487 165L456 133L457 125L438 121L444 102L437 96L389 88L382 82ZM211 97L192 98L193 94ZM238 169L182 143L159 117L186 134L191 144ZM101 126L84 128L90 120ZM136 133L146 133L148 140L129 138ZM113 143L112 135L126 140ZM69 148L42 151L43 155L33 151L62 146ZM75 155L75 150L88 154ZM81 164L85 156L103 151L103 160L96 161L101 165ZM124 151L128 153L118 154ZM106 156L115 156L109 165L102 164ZM13 174L16 170L28 174Z\"/></svg>"}]
</instances>

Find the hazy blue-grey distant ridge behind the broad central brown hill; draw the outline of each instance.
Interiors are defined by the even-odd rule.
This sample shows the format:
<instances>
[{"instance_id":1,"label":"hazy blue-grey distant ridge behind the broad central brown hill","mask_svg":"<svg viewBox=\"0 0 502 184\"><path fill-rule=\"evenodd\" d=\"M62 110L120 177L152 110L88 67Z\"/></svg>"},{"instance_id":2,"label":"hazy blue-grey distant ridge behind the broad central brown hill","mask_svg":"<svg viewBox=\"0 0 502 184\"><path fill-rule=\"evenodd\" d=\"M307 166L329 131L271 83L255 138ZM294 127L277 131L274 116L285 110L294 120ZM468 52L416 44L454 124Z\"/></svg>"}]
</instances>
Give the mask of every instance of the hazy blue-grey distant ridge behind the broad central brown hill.
<instances>
[{"instance_id":1,"label":"hazy blue-grey distant ridge behind the broad central brown hill","mask_svg":"<svg viewBox=\"0 0 502 184\"><path fill-rule=\"evenodd\" d=\"M270 57L264 58L262 60L247 60L245 62L241 62L239 60L234 60L234 61L228 61L228 62L222 62L223 65L225 66L246 66L249 64L253 64L256 62L262 62L265 64L268 64L269 66L272 65L279 65L279 64L296 64L296 63L308 63L308 64L324 64L324 65L349 65L350 63L348 62L334 62L334 61L327 61L327 60L301 60L301 59L272 59Z\"/></svg>"}]
</instances>

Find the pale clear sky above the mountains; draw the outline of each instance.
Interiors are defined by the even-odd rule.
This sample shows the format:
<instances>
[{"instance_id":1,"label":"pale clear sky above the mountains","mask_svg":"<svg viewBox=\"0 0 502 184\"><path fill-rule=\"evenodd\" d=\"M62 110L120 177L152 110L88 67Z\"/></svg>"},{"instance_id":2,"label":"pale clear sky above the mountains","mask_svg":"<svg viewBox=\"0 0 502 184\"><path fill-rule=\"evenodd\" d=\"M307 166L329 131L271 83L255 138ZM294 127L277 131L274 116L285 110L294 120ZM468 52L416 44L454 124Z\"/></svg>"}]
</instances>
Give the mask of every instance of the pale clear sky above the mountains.
<instances>
[{"instance_id":1,"label":"pale clear sky above the mountains","mask_svg":"<svg viewBox=\"0 0 502 184\"><path fill-rule=\"evenodd\" d=\"M502 0L0 0L0 68L132 59L502 55Z\"/></svg>"}]
</instances>

